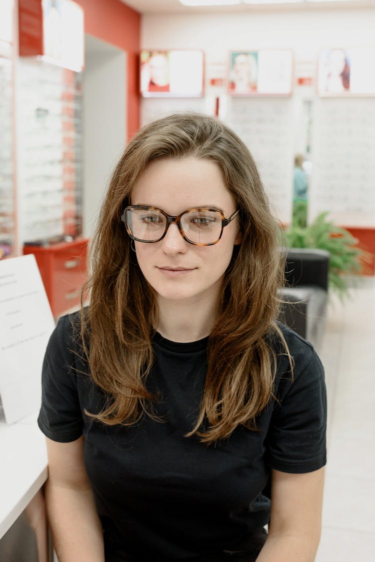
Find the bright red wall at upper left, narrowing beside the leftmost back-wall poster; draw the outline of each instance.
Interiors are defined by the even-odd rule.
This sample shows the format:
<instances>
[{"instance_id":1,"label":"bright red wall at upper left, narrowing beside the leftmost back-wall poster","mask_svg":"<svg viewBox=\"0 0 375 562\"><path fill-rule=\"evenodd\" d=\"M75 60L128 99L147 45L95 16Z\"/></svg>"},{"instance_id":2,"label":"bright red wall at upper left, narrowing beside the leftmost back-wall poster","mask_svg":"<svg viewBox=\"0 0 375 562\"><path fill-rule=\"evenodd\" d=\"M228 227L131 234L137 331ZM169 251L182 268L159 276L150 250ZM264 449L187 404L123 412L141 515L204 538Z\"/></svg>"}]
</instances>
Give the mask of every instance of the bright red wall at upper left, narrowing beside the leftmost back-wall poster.
<instances>
[{"instance_id":1,"label":"bright red wall at upper left, narrowing beside the leftmost back-wall poster","mask_svg":"<svg viewBox=\"0 0 375 562\"><path fill-rule=\"evenodd\" d=\"M120 0L75 0L85 12L85 33L111 43L127 53L127 134L139 129L138 57L140 51L139 12ZM110 87L110 85L109 85Z\"/></svg>"}]
</instances>

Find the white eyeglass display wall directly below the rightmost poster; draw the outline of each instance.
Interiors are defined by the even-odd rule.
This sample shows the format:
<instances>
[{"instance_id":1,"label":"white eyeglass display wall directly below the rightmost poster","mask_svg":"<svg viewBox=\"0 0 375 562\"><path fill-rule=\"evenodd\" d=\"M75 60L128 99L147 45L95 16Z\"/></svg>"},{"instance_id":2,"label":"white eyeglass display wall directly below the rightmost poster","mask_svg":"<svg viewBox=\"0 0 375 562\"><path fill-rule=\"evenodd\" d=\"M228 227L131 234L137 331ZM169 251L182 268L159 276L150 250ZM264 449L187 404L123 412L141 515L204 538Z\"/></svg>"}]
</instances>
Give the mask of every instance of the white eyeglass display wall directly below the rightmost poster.
<instances>
[{"instance_id":1,"label":"white eyeglass display wall directly below the rightmost poster","mask_svg":"<svg viewBox=\"0 0 375 562\"><path fill-rule=\"evenodd\" d=\"M312 214L375 226L374 98L318 98L313 120Z\"/></svg>"}]
</instances>

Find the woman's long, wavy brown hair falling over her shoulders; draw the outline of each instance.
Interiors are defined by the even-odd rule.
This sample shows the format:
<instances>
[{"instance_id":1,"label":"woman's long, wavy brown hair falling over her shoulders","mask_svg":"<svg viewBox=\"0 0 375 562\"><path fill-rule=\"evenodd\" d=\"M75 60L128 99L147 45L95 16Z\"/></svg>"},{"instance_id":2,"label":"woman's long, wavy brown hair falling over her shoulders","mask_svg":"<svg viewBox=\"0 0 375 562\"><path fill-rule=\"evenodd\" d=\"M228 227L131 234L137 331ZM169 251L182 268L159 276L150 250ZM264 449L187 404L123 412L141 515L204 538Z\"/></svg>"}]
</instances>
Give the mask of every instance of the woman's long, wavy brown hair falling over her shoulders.
<instances>
[{"instance_id":1,"label":"woman's long, wavy brown hair falling over her shoulders","mask_svg":"<svg viewBox=\"0 0 375 562\"><path fill-rule=\"evenodd\" d=\"M208 370L196 424L205 443L230 436L237 425L256 429L257 415L272 397L278 337L277 289L283 284L278 225L269 209L257 167L245 144L207 115L176 114L144 126L113 173L92 247L90 305L81 309L81 341L94 382L108 396L99 414L105 424L136 423L154 416L156 397L146 388L153 364L158 309L131 251L121 222L131 189L150 161L195 157L217 162L240 209L242 241L225 274L221 306L208 339Z\"/></svg>"}]
</instances>

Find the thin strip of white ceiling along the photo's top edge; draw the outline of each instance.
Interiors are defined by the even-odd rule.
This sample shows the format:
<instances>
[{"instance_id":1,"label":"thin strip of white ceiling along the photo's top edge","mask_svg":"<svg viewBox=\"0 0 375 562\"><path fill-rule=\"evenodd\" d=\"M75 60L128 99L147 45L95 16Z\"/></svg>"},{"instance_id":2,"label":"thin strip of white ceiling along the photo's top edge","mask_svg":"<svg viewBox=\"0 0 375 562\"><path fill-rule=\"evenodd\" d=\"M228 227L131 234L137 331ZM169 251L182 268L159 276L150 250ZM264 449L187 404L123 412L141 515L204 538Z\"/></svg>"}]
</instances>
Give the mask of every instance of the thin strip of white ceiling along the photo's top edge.
<instances>
[{"instance_id":1,"label":"thin strip of white ceiling along the photo's top edge","mask_svg":"<svg viewBox=\"0 0 375 562\"><path fill-rule=\"evenodd\" d=\"M280 0L279 0L280 1ZM301 2L285 4L239 4L238 6L202 6L202 7L186 7L182 6L179 0L121 0L127 6L134 8L140 13L213 13L213 12L244 12L250 10L304 10L311 9L327 9L327 8L349 8L349 7L369 7L374 6L375 0L352 0L352 1L333 1L330 2Z\"/></svg>"}]
</instances>

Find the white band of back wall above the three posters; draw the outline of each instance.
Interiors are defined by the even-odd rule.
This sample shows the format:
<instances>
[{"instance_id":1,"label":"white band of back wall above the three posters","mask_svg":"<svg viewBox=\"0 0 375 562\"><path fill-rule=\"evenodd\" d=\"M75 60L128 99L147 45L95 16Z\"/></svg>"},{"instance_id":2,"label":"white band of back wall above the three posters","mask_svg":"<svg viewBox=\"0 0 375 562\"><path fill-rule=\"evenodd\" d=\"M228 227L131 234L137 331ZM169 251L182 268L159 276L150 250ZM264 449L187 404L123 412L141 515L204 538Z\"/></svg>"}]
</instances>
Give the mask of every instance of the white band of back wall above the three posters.
<instances>
[{"instance_id":1,"label":"white band of back wall above the three posters","mask_svg":"<svg viewBox=\"0 0 375 562\"><path fill-rule=\"evenodd\" d=\"M319 47L375 46L375 10L288 10L217 15L145 15L142 48L203 49L208 56L237 49L292 48L315 59Z\"/></svg>"}]
</instances>

